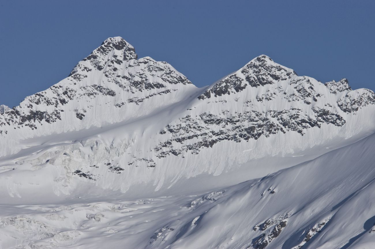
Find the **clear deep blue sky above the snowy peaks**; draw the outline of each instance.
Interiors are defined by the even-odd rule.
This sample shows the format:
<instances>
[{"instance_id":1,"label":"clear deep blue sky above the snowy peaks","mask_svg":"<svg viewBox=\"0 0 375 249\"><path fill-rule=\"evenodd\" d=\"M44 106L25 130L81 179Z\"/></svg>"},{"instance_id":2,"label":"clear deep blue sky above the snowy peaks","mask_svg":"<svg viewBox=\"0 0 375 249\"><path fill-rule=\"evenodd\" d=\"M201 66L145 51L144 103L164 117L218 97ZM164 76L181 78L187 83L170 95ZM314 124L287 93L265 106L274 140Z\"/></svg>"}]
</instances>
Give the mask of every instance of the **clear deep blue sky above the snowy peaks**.
<instances>
[{"instance_id":1,"label":"clear deep blue sky above the snowy peaks","mask_svg":"<svg viewBox=\"0 0 375 249\"><path fill-rule=\"evenodd\" d=\"M107 37L205 86L266 54L322 82L375 89L375 1L0 0L0 104L68 76Z\"/></svg>"}]
</instances>

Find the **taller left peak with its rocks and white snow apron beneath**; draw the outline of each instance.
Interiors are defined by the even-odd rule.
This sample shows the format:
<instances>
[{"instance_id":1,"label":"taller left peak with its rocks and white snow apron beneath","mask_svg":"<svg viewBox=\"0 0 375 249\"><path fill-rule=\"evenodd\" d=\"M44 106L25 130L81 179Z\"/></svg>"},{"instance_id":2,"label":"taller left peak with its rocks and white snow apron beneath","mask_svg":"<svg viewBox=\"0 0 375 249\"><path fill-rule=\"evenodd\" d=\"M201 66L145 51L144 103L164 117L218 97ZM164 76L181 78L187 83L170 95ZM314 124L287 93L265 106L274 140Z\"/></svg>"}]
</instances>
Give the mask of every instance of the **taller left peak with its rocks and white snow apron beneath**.
<instances>
[{"instance_id":1,"label":"taller left peak with its rocks and white snow apron beneath","mask_svg":"<svg viewBox=\"0 0 375 249\"><path fill-rule=\"evenodd\" d=\"M124 39L108 38L68 78L26 97L0 116L4 137L0 156L18 152L19 140L147 115L186 98L195 89L168 63L150 57L137 60L133 46Z\"/></svg>"}]
</instances>

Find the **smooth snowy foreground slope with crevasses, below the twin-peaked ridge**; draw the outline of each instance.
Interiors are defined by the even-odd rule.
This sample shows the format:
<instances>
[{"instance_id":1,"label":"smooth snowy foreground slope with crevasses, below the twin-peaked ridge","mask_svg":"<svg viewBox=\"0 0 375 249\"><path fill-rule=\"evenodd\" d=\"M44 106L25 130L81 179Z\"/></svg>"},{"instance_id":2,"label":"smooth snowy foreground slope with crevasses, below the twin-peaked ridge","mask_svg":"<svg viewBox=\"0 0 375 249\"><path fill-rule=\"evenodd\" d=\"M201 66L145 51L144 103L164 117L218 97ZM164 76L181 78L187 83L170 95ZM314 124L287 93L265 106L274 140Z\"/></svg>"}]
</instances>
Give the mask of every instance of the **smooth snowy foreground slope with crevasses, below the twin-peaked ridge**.
<instances>
[{"instance_id":1,"label":"smooth snowy foreground slope with crevasses, below the twin-peaked ridge","mask_svg":"<svg viewBox=\"0 0 375 249\"><path fill-rule=\"evenodd\" d=\"M200 195L2 204L1 245L374 248L374 162L375 135L371 135L261 179Z\"/></svg>"}]
</instances>

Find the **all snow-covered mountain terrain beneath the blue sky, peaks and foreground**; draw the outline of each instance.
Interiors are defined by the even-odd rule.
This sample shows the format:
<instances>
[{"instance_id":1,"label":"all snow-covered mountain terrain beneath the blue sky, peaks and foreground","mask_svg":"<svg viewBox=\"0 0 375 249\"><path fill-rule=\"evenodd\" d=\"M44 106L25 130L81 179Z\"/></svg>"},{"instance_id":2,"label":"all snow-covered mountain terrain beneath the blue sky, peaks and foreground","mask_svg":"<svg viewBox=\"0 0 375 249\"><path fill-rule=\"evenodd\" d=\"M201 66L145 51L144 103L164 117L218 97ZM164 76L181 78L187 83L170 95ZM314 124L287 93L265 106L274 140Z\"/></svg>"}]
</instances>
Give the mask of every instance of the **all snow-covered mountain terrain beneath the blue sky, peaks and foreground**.
<instances>
[{"instance_id":1,"label":"all snow-covered mountain terrain beneath the blue sky, peaks and foreground","mask_svg":"<svg viewBox=\"0 0 375 249\"><path fill-rule=\"evenodd\" d=\"M346 194L362 198L358 189L371 183L373 165L358 158L371 162L374 139L364 138L375 130L374 92L298 76L266 55L197 88L168 63L138 59L124 39L108 38L68 78L2 110L1 203L32 204L3 206L0 229L26 234L22 242L3 235L4 248L100 248L107 241L84 238L126 237L127 225L110 226L129 222L125 211L142 232L113 243L130 248L348 248L312 238L336 224L335 205L353 207ZM45 200L60 204L37 205ZM210 237L213 228L221 234Z\"/></svg>"}]
</instances>

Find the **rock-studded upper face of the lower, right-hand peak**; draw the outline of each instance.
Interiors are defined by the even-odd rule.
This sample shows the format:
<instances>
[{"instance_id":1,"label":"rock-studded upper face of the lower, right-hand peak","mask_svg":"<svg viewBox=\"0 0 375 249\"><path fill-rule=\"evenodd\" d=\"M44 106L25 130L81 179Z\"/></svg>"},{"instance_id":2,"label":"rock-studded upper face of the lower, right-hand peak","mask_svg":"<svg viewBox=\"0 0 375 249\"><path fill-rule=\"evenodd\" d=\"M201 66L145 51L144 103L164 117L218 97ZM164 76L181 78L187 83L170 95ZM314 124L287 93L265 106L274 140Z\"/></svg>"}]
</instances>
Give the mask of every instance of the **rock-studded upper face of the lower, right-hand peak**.
<instances>
[{"instance_id":1,"label":"rock-studded upper face of the lower, right-hand peak","mask_svg":"<svg viewBox=\"0 0 375 249\"><path fill-rule=\"evenodd\" d=\"M333 85L344 88L333 92ZM329 137L332 139L343 134L344 137L353 136L356 133L353 132L353 125L371 127L368 122L363 122L361 114L357 112L362 107L373 107L375 104L375 94L371 90L351 91L345 79L335 84L328 82L325 87L315 79L297 76L293 70L274 63L266 55L255 58L242 69L214 84L198 99L190 106L190 109L198 109L192 111L192 114L198 116L186 112L183 118L168 124L162 131L169 131L176 137L166 141L172 143L166 146L172 147L169 153L178 154L189 150L198 153L201 148L212 147L225 140L249 142L281 133L294 136L294 142L304 140L297 148L308 148L314 146L315 132L319 132L314 128L327 126L327 129L322 130L332 129L333 134ZM207 108L207 104L210 104L210 108ZM347 108L347 105L351 107ZM358 116L353 118L351 114ZM351 119L355 119L354 123ZM191 124L196 128L190 127ZM311 128L315 131L311 131ZM308 139L303 139L304 135ZM197 137L200 139L195 139ZM193 145L187 142L194 139ZM178 145L175 146L174 142L181 140L186 142L186 146L181 146L176 152L175 147ZM323 143L321 137L318 143ZM285 148L274 147L274 154L285 153ZM294 151L295 148L286 149ZM165 149L162 151L160 156L168 154Z\"/></svg>"}]
</instances>

